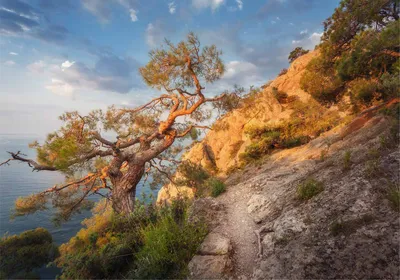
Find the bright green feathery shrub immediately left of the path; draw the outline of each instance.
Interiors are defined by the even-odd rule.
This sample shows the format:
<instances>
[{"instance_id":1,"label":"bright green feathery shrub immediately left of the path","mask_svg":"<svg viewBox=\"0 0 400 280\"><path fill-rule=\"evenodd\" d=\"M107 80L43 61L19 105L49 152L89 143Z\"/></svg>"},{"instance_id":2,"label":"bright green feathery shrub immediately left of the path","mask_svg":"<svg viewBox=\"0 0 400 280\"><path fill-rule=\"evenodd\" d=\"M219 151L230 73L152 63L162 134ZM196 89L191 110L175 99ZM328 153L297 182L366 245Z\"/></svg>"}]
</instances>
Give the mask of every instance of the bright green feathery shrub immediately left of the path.
<instances>
[{"instance_id":1,"label":"bright green feathery shrub immediately left of the path","mask_svg":"<svg viewBox=\"0 0 400 280\"><path fill-rule=\"evenodd\" d=\"M144 246L136 255L137 268L128 274L128 278L176 279L187 276L187 265L207 230L203 224L189 223L186 209L183 206L178 217L169 211L142 230Z\"/></svg>"}]
</instances>

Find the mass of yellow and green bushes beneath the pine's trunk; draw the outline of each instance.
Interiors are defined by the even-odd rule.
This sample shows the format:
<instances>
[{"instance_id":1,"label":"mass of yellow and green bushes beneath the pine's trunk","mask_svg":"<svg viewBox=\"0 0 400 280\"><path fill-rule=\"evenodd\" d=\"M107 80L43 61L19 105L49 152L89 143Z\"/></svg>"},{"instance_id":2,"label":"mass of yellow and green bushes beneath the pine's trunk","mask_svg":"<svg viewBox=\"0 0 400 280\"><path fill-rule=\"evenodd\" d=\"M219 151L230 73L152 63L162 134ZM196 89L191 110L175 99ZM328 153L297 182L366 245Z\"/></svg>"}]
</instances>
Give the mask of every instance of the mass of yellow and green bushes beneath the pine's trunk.
<instances>
[{"instance_id":1,"label":"mass of yellow and green bushes beneath the pine's trunk","mask_svg":"<svg viewBox=\"0 0 400 280\"><path fill-rule=\"evenodd\" d=\"M189 223L189 204L178 199L155 208L137 202L129 216L99 203L92 218L60 247L61 279L184 278L206 228Z\"/></svg>"}]
</instances>

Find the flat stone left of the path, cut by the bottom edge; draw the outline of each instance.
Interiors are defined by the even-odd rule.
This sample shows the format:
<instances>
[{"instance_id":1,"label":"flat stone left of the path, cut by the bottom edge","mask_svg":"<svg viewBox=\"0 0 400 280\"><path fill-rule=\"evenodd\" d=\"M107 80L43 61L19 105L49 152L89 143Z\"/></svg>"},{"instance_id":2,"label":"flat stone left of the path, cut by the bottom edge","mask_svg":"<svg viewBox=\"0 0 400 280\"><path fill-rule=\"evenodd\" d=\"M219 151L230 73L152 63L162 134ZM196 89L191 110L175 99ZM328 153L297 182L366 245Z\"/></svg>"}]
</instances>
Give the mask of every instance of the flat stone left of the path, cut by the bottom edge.
<instances>
[{"instance_id":1,"label":"flat stone left of the path, cut by the bottom edge","mask_svg":"<svg viewBox=\"0 0 400 280\"><path fill-rule=\"evenodd\" d=\"M221 279L231 269L228 255L196 255L189 263L189 279Z\"/></svg>"}]
</instances>

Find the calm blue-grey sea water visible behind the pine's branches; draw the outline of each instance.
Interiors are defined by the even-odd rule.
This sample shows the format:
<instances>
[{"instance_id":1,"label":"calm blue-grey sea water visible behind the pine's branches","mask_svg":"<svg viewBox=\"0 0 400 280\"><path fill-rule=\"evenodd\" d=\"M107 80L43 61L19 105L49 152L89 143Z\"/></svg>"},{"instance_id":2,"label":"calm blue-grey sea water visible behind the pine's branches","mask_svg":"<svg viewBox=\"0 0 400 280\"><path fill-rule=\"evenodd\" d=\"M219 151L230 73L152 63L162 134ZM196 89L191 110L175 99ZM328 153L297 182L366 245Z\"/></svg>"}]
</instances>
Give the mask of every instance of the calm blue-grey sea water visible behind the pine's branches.
<instances>
[{"instance_id":1,"label":"calm blue-grey sea water visible behind the pine's branches","mask_svg":"<svg viewBox=\"0 0 400 280\"><path fill-rule=\"evenodd\" d=\"M28 148L28 144L37 138L32 136L16 136L0 134L0 162L9 158L7 151L21 151L28 157L35 158L35 151ZM0 234L19 234L23 231L43 227L50 231L57 245L67 242L79 229L81 222L91 216L90 211L75 215L60 227L56 227L51 219L54 210L49 209L32 215L17 217L10 220L11 209L14 201L19 196L43 191L54 184L62 183L64 176L57 172L41 171L32 172L24 163L11 162L10 166L0 167ZM148 193L146 188L138 187L137 194ZM99 199L93 196L93 199ZM54 279L59 274L59 269L43 267L39 271L42 279Z\"/></svg>"}]
</instances>

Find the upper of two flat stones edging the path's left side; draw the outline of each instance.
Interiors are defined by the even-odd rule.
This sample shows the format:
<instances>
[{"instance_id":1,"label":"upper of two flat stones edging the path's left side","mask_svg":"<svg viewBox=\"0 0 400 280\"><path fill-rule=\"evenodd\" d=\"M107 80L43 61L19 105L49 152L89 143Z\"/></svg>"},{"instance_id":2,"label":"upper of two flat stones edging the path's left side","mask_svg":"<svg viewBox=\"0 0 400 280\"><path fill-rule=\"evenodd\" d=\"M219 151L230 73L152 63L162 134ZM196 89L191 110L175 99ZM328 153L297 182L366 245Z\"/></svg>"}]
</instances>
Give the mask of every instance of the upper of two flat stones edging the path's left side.
<instances>
[{"instance_id":1,"label":"upper of two flat stones edging the path's left side","mask_svg":"<svg viewBox=\"0 0 400 280\"><path fill-rule=\"evenodd\" d=\"M200 246L200 255L226 255L230 252L232 246L229 238L220 233L211 232L204 239Z\"/></svg>"}]
</instances>

